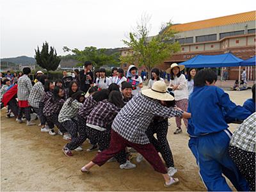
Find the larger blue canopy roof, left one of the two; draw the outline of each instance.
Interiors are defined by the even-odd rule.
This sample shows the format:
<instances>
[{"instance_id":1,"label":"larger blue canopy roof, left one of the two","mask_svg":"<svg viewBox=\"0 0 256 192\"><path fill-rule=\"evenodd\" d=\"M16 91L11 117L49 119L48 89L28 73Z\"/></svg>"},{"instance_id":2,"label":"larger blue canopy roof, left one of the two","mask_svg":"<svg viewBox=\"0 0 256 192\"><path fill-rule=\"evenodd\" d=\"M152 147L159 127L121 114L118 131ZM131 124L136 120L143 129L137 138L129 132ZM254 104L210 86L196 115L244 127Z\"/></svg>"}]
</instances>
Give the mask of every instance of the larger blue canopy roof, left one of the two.
<instances>
[{"instance_id":1,"label":"larger blue canopy roof, left one of the two","mask_svg":"<svg viewBox=\"0 0 256 192\"><path fill-rule=\"evenodd\" d=\"M185 67L238 67L240 62L243 61L232 53L218 55L197 55L188 61L179 63L179 65L185 65Z\"/></svg>"}]
</instances>

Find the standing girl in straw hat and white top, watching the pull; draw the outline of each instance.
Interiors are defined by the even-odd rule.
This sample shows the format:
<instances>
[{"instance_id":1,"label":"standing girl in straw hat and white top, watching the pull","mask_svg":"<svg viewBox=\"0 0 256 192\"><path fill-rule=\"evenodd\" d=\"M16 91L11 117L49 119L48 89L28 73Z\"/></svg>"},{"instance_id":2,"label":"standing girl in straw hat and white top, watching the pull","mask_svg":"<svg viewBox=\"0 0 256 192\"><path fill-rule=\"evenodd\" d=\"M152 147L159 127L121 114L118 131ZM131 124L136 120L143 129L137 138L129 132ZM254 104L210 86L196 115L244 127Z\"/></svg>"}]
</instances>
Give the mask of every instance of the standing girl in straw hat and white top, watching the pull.
<instances>
[{"instance_id":1,"label":"standing girl in straw hat and white top, watching the pull","mask_svg":"<svg viewBox=\"0 0 256 192\"><path fill-rule=\"evenodd\" d=\"M186 77L180 73L180 71L184 70L184 65L178 65L177 63L173 63L170 67L171 72L171 81L169 87L172 88L175 98L175 104L178 108L183 111L187 111L188 109L188 86L186 82ZM182 132L181 129L181 118L176 116L176 125L177 129L174 134L179 134ZM184 119L184 124L186 128L188 127L188 120Z\"/></svg>"}]
</instances>

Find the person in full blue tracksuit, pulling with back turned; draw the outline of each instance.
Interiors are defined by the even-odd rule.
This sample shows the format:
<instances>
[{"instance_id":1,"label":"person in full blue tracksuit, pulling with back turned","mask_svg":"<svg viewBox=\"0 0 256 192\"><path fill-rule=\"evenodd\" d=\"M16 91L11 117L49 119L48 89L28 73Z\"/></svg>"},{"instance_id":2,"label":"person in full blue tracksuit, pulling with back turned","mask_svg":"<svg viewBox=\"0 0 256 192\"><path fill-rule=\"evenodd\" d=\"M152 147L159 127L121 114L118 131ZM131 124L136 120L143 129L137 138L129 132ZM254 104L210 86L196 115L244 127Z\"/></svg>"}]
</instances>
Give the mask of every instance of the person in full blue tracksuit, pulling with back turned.
<instances>
[{"instance_id":1,"label":"person in full blue tracksuit, pulling with back turned","mask_svg":"<svg viewBox=\"0 0 256 192\"><path fill-rule=\"evenodd\" d=\"M232 133L227 129L225 118L244 120L250 112L236 106L227 93L214 86L216 80L216 74L210 69L200 70L195 76L195 88L188 106L191 113L189 148L196 157L200 176L209 191L231 191L222 173L237 191L248 191L248 183L228 156Z\"/></svg>"}]
</instances>

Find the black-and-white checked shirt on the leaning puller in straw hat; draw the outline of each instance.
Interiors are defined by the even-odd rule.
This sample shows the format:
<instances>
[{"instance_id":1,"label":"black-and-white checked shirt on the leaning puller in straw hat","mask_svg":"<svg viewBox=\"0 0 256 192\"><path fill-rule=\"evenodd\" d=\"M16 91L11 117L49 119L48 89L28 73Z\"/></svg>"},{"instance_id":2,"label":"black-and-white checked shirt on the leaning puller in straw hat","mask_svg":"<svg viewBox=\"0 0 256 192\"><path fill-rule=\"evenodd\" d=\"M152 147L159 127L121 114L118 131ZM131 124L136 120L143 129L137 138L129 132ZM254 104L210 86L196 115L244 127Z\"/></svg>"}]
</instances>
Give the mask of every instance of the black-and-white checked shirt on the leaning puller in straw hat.
<instances>
[{"instance_id":1,"label":"black-and-white checked shirt on the leaning puller in straw hat","mask_svg":"<svg viewBox=\"0 0 256 192\"><path fill-rule=\"evenodd\" d=\"M138 93L127 102L112 124L112 129L125 140L145 145L150 143L145 131L154 116L182 116L183 111L162 106L157 100Z\"/></svg>"}]
</instances>

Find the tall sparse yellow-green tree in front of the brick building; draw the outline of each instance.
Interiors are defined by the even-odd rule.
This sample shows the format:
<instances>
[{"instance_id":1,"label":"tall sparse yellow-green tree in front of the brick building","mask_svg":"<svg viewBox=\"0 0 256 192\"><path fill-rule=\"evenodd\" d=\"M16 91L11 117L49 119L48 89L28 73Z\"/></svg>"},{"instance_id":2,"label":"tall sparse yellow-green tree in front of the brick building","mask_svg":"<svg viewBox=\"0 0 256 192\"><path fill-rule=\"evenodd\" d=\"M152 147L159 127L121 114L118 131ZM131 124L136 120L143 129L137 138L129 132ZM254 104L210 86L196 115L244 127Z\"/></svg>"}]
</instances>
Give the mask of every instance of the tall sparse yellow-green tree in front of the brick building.
<instances>
[{"instance_id":1,"label":"tall sparse yellow-green tree in front of the brick building","mask_svg":"<svg viewBox=\"0 0 256 192\"><path fill-rule=\"evenodd\" d=\"M122 63L138 63L140 67L147 68L148 72L164 59L170 58L174 52L180 51L179 42L175 42L178 31L170 28L172 23L162 24L158 35L148 36L149 20L150 17L143 15L134 32L129 33L129 40L122 40L131 51L127 56L120 56Z\"/></svg>"}]
</instances>

